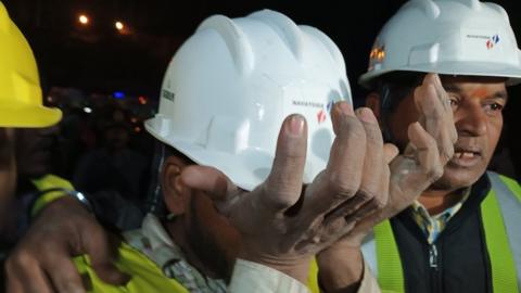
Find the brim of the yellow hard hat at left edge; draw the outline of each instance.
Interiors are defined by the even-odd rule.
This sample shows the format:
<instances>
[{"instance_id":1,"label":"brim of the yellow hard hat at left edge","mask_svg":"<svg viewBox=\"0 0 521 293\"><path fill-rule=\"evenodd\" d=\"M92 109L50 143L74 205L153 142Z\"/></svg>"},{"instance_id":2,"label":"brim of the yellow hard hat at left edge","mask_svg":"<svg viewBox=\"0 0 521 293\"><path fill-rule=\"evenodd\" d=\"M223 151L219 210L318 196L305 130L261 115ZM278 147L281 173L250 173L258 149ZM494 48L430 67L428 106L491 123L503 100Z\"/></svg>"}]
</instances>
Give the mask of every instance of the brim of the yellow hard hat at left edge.
<instances>
[{"instance_id":1,"label":"brim of the yellow hard hat at left edge","mask_svg":"<svg viewBox=\"0 0 521 293\"><path fill-rule=\"evenodd\" d=\"M0 127L40 128L59 123L62 111L46 106L0 106Z\"/></svg>"}]
</instances>

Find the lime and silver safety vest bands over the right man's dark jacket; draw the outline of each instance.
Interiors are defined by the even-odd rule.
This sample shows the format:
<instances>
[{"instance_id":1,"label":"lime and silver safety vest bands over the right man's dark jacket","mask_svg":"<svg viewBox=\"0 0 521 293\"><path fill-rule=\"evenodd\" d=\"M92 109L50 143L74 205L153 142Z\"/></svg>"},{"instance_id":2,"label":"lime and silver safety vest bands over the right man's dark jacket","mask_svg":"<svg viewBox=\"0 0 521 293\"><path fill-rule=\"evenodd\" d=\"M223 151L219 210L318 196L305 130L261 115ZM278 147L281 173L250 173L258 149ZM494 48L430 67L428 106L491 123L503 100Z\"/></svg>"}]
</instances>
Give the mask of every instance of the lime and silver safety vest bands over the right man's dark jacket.
<instances>
[{"instance_id":1,"label":"lime and silver safety vest bands over the right man's dark jacket","mask_svg":"<svg viewBox=\"0 0 521 293\"><path fill-rule=\"evenodd\" d=\"M493 289L499 293L520 292L521 188L507 177L491 171L487 175L492 188L481 203L481 215L491 259ZM498 227L504 229L497 229ZM389 220L374 227L373 233L364 241L361 251L382 290L404 292L399 251Z\"/></svg>"}]
</instances>

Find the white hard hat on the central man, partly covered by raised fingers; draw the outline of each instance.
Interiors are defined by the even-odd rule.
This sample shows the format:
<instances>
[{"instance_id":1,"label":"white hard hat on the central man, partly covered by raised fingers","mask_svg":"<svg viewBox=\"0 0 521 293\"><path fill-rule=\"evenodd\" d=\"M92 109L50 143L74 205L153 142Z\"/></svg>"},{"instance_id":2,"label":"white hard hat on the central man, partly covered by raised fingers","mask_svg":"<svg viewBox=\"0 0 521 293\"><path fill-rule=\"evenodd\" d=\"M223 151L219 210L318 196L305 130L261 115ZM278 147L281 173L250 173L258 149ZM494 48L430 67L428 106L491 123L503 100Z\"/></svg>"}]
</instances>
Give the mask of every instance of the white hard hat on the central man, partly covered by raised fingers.
<instances>
[{"instance_id":1,"label":"white hard hat on the central man, partly covered by raised fingers","mask_svg":"<svg viewBox=\"0 0 521 293\"><path fill-rule=\"evenodd\" d=\"M264 10L205 20L166 71L156 139L252 190L268 176L278 132L290 114L308 125L304 182L328 162L334 139L329 110L351 100L344 59L320 30Z\"/></svg>"}]
</instances>

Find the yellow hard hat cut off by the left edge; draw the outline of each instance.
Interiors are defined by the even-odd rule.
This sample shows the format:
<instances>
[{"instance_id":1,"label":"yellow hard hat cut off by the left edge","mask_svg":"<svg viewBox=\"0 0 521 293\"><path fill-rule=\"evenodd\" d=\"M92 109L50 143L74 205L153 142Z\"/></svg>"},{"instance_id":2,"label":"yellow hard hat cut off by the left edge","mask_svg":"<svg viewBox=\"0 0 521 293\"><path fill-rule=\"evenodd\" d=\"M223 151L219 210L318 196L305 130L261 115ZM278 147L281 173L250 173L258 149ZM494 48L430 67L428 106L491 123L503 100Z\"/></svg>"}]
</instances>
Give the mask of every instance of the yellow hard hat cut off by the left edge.
<instances>
[{"instance_id":1,"label":"yellow hard hat cut off by the left edge","mask_svg":"<svg viewBox=\"0 0 521 293\"><path fill-rule=\"evenodd\" d=\"M46 107L35 56L0 2L0 127L47 127L62 118Z\"/></svg>"}]
</instances>

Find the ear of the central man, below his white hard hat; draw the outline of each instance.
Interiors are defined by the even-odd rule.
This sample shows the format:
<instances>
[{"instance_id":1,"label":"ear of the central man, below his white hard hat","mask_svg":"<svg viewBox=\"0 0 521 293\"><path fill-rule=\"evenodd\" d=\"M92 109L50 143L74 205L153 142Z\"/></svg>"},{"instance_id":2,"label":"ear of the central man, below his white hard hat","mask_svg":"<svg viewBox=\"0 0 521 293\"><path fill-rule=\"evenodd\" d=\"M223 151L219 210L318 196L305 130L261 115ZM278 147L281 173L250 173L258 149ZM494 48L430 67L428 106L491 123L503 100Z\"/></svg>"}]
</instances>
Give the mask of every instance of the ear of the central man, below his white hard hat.
<instances>
[{"instance_id":1,"label":"ear of the central man, below his white hard hat","mask_svg":"<svg viewBox=\"0 0 521 293\"><path fill-rule=\"evenodd\" d=\"M188 206L188 190L180 176L186 166L183 160L170 155L165 160L161 174L163 198L168 212L174 215L185 214Z\"/></svg>"}]
</instances>

